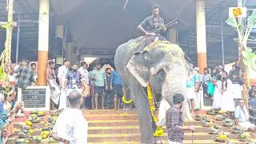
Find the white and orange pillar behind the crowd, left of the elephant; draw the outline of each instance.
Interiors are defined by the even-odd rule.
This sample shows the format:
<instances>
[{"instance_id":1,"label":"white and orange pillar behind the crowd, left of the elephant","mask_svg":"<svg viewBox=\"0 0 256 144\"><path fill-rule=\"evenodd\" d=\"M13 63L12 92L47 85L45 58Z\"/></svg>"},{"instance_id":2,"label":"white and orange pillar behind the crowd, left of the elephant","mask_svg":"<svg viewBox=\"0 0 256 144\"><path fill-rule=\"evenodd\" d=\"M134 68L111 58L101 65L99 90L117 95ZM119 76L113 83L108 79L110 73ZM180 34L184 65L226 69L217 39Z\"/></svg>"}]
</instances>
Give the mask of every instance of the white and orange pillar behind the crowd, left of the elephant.
<instances>
[{"instance_id":1,"label":"white and orange pillar behind the crowd, left of the elephant","mask_svg":"<svg viewBox=\"0 0 256 144\"><path fill-rule=\"evenodd\" d=\"M39 0L38 21L38 85L45 86L49 50L49 0Z\"/></svg>"}]
</instances>

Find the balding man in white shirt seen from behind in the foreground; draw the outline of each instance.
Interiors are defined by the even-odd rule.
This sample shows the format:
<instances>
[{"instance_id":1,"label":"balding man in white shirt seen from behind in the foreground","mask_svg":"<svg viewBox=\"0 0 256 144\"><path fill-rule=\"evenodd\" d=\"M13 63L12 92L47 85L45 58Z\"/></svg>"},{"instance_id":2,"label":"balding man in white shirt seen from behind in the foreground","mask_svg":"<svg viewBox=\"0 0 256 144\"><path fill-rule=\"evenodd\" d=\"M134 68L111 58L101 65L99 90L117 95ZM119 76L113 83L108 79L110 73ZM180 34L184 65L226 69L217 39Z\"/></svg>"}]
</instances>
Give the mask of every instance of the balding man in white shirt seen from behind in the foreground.
<instances>
[{"instance_id":1,"label":"balding man in white shirt seen from behind in the foreground","mask_svg":"<svg viewBox=\"0 0 256 144\"><path fill-rule=\"evenodd\" d=\"M70 107L58 116L52 137L59 141L59 144L86 144L88 122L80 110L81 94L77 90L70 92L68 102Z\"/></svg>"}]
</instances>

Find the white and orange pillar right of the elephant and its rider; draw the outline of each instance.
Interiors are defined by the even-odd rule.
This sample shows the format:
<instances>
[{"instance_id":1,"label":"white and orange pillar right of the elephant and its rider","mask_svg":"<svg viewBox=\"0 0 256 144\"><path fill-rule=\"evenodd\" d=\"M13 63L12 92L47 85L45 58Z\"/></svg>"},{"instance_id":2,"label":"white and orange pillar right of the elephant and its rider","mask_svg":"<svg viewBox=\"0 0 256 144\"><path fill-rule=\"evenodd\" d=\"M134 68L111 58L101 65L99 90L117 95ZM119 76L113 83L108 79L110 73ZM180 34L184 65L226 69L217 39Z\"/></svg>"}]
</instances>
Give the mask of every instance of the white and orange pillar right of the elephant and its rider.
<instances>
[{"instance_id":1,"label":"white and orange pillar right of the elephant and its rider","mask_svg":"<svg viewBox=\"0 0 256 144\"><path fill-rule=\"evenodd\" d=\"M197 52L200 74L207 67L205 0L196 0Z\"/></svg>"}]
</instances>

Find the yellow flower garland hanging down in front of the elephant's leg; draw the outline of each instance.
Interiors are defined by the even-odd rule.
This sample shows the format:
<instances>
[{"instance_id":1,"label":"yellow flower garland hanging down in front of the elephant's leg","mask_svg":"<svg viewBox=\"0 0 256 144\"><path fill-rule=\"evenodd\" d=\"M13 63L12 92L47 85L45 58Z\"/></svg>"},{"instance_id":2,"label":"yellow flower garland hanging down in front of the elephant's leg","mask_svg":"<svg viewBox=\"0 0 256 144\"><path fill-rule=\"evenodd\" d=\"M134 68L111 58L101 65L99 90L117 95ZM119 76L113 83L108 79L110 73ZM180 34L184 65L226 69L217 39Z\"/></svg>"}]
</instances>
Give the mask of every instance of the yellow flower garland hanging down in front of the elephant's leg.
<instances>
[{"instance_id":1,"label":"yellow flower garland hanging down in front of the elephant's leg","mask_svg":"<svg viewBox=\"0 0 256 144\"><path fill-rule=\"evenodd\" d=\"M154 99L151 93L151 87L150 84L148 86L146 86L146 91L147 91L147 98L149 100L149 105L150 105L150 111L151 111L151 115L152 118L154 120L155 123L158 122L158 118L154 116ZM157 129L154 131L154 137L162 137L163 136L163 130L161 126L158 126Z\"/></svg>"}]
</instances>

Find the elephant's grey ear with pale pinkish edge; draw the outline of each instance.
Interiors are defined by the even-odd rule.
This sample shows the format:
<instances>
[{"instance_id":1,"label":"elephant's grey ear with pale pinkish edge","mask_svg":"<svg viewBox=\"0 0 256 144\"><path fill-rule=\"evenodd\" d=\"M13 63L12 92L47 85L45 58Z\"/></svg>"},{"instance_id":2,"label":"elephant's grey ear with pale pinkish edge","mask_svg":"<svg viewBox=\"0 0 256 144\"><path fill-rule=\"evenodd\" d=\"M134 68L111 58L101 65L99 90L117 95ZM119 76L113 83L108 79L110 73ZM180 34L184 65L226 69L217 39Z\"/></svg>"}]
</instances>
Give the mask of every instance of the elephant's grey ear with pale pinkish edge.
<instances>
[{"instance_id":1,"label":"elephant's grey ear with pale pinkish edge","mask_svg":"<svg viewBox=\"0 0 256 144\"><path fill-rule=\"evenodd\" d=\"M134 54L126 65L126 68L130 73L133 74L138 82L144 87L146 87L150 81L150 72L147 62L148 52L144 51L142 53L138 52Z\"/></svg>"}]
</instances>

